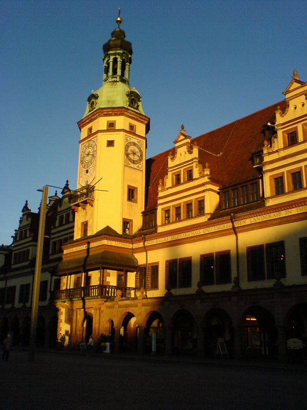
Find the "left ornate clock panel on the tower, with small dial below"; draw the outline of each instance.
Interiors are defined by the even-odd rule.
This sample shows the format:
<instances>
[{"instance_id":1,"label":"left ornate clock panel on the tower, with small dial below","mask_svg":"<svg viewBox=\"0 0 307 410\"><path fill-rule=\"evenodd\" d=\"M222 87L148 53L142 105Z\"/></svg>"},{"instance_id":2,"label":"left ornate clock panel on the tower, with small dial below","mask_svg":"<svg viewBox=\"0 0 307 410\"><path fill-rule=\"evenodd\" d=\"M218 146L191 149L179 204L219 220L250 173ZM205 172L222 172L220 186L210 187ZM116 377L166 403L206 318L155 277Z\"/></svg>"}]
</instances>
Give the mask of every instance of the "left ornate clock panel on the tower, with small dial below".
<instances>
[{"instance_id":1,"label":"left ornate clock panel on the tower, with small dial below","mask_svg":"<svg viewBox=\"0 0 307 410\"><path fill-rule=\"evenodd\" d=\"M79 183L84 186L95 178L96 169L96 138L86 141L81 146Z\"/></svg>"}]
</instances>

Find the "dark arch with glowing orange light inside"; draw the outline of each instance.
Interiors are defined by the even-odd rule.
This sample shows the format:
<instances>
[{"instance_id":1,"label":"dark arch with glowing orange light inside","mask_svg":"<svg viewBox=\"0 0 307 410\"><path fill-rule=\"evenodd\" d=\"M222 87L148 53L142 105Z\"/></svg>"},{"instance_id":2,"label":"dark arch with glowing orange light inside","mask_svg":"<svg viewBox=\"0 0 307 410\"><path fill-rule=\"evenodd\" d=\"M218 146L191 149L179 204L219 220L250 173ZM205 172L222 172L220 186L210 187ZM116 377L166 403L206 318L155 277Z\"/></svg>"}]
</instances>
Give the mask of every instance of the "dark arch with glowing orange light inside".
<instances>
[{"instance_id":1,"label":"dark arch with glowing orange light inside","mask_svg":"<svg viewBox=\"0 0 307 410\"><path fill-rule=\"evenodd\" d=\"M252 306L242 319L242 348L246 358L277 356L277 332L272 314L261 306Z\"/></svg>"}]
</instances>

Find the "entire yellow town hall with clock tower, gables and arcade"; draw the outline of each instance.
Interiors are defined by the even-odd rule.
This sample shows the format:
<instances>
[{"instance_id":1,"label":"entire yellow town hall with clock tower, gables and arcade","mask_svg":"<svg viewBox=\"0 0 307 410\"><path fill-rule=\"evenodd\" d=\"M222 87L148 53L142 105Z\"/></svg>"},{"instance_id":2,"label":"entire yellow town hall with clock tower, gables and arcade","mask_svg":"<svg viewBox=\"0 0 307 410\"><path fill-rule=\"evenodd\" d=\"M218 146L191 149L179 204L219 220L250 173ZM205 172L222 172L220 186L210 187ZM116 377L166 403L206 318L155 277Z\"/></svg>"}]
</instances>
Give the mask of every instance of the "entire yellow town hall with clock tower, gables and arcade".
<instances>
[{"instance_id":1,"label":"entire yellow town hall with clock tower, gables and arcade","mask_svg":"<svg viewBox=\"0 0 307 410\"><path fill-rule=\"evenodd\" d=\"M284 360L307 333L307 83L294 71L273 106L195 138L181 126L146 159L116 22L78 122L77 188L49 197L37 342ZM38 214L26 202L0 247L0 336L15 344L29 339Z\"/></svg>"}]
</instances>

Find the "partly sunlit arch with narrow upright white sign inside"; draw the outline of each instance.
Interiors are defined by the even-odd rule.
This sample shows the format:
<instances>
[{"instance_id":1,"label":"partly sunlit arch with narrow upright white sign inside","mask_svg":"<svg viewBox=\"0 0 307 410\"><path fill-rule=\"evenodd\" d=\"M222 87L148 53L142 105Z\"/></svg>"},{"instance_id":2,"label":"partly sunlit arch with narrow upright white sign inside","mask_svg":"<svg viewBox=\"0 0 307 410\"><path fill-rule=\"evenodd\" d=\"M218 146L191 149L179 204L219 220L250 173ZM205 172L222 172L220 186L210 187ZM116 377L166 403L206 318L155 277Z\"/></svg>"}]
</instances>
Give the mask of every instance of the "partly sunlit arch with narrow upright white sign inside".
<instances>
[{"instance_id":1,"label":"partly sunlit arch with narrow upright white sign inside","mask_svg":"<svg viewBox=\"0 0 307 410\"><path fill-rule=\"evenodd\" d=\"M145 353L164 354L164 320L160 313L152 312L145 327Z\"/></svg>"}]
</instances>

